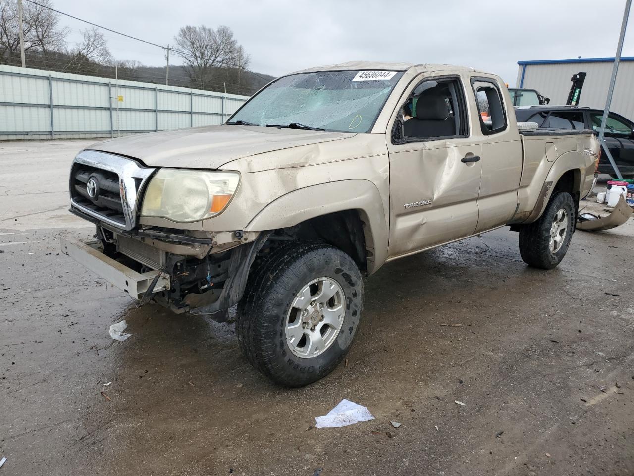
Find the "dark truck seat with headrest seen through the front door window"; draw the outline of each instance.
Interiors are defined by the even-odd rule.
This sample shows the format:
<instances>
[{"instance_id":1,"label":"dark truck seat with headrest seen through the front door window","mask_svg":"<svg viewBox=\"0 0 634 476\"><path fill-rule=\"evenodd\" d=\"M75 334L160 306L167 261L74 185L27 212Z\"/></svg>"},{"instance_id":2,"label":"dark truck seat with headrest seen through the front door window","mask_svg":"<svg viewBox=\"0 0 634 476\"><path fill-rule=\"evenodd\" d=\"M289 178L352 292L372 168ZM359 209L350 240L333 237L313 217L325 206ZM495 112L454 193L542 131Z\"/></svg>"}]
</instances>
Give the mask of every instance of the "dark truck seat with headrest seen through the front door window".
<instances>
[{"instance_id":1,"label":"dark truck seat with headrest seen through the front door window","mask_svg":"<svg viewBox=\"0 0 634 476\"><path fill-rule=\"evenodd\" d=\"M442 96L420 95L416 116L405 121L407 137L447 137L456 135L456 124L449 117L449 108Z\"/></svg>"}]
</instances>

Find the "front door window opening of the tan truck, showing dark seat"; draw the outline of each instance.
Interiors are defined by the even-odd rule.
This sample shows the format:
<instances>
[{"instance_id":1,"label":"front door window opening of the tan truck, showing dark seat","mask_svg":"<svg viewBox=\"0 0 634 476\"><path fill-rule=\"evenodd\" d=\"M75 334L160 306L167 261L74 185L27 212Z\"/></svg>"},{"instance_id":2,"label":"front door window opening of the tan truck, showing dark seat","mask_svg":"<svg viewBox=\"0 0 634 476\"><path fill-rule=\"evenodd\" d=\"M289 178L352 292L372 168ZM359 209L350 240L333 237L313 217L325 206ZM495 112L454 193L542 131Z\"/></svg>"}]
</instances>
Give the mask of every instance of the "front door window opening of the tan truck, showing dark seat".
<instances>
[{"instance_id":1,"label":"front door window opening of the tan truck, showing dark seat","mask_svg":"<svg viewBox=\"0 0 634 476\"><path fill-rule=\"evenodd\" d=\"M464 93L458 79L418 84L401 107L405 142L464 137L469 134Z\"/></svg>"}]
</instances>

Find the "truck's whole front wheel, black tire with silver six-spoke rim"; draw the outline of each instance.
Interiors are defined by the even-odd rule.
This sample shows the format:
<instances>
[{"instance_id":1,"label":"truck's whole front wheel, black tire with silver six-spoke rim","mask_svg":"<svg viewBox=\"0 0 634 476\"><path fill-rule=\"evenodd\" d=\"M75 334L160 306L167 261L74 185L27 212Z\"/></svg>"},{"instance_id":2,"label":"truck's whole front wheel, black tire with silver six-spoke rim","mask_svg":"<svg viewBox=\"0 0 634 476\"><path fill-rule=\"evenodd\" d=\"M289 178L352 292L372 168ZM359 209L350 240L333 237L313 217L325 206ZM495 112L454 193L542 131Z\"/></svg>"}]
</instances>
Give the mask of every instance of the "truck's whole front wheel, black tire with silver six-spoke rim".
<instances>
[{"instance_id":1,"label":"truck's whole front wheel, black tire with silver six-spoke rim","mask_svg":"<svg viewBox=\"0 0 634 476\"><path fill-rule=\"evenodd\" d=\"M287 387L333 371L353 343L363 281L354 260L319 243L275 251L252 272L236 334L249 362Z\"/></svg>"}]
</instances>

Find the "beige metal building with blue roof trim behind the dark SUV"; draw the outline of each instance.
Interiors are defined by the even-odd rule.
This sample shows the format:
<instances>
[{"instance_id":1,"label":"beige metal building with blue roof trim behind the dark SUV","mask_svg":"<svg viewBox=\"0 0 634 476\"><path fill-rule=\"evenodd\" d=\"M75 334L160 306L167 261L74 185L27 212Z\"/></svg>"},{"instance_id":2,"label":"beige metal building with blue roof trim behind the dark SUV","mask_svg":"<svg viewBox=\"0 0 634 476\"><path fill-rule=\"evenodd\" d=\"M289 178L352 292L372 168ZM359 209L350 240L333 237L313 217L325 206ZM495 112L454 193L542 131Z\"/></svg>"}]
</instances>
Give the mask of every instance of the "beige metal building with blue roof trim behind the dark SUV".
<instances>
[{"instance_id":1,"label":"beige metal building with blue roof trim behind the dark SUV","mask_svg":"<svg viewBox=\"0 0 634 476\"><path fill-rule=\"evenodd\" d=\"M571 77L585 72L587 76L579 105L605 107L614 57L519 61L517 65L516 87L536 89L550 98L550 104L565 104ZM621 56L610 110L634 121L634 56Z\"/></svg>"}]
</instances>

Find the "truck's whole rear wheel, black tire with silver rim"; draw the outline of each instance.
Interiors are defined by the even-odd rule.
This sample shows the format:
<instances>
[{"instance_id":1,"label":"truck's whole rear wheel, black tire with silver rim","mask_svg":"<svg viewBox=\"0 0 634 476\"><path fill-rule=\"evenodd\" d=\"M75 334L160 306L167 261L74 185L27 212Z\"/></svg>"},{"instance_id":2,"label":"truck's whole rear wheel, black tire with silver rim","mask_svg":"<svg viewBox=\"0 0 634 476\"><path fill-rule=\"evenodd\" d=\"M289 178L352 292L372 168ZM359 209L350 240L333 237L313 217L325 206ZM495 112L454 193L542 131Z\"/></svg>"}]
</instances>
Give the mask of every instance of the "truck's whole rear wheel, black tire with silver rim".
<instances>
[{"instance_id":1,"label":"truck's whole rear wheel, black tire with silver rim","mask_svg":"<svg viewBox=\"0 0 634 476\"><path fill-rule=\"evenodd\" d=\"M552 269L566 256L573 238L574 200L567 192L555 192L539 220L519 232L519 252L527 265Z\"/></svg>"}]
</instances>

